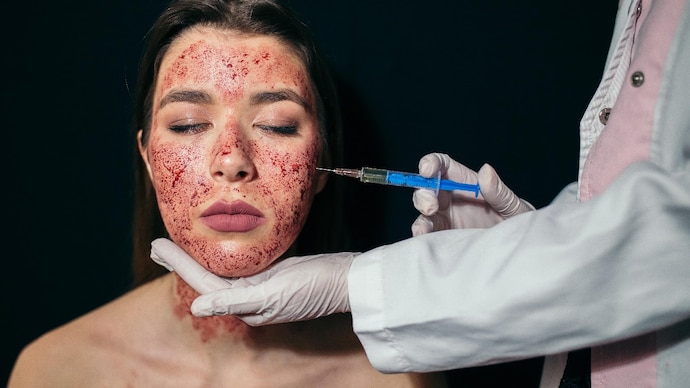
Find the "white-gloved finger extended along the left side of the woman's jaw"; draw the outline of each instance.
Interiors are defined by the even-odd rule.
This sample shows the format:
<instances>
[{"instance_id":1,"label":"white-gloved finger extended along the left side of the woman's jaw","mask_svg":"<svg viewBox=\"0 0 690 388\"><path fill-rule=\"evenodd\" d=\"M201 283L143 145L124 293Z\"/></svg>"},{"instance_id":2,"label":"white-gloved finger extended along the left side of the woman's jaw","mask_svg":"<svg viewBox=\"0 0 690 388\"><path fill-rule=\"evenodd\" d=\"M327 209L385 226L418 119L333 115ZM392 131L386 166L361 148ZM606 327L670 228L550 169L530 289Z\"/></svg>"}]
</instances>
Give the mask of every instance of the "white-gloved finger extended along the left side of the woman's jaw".
<instances>
[{"instance_id":1,"label":"white-gloved finger extended along the left side of the woman's jaw","mask_svg":"<svg viewBox=\"0 0 690 388\"><path fill-rule=\"evenodd\" d=\"M151 258L169 271L177 272L198 293L231 287L231 280L224 279L202 267L174 242L158 238L151 242Z\"/></svg>"}]
</instances>

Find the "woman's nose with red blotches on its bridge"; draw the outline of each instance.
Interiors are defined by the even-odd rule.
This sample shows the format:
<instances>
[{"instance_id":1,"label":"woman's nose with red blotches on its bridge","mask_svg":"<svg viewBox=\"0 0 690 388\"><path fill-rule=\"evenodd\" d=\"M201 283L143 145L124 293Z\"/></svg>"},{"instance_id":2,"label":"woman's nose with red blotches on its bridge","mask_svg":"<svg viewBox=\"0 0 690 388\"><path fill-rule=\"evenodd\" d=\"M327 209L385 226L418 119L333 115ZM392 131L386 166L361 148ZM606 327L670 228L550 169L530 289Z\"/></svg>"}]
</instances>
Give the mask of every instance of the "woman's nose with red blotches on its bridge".
<instances>
[{"instance_id":1,"label":"woman's nose with red blotches on its bridge","mask_svg":"<svg viewBox=\"0 0 690 388\"><path fill-rule=\"evenodd\" d=\"M250 181L256 173L248 147L235 136L220 142L211 165L211 175L217 181Z\"/></svg>"}]
</instances>

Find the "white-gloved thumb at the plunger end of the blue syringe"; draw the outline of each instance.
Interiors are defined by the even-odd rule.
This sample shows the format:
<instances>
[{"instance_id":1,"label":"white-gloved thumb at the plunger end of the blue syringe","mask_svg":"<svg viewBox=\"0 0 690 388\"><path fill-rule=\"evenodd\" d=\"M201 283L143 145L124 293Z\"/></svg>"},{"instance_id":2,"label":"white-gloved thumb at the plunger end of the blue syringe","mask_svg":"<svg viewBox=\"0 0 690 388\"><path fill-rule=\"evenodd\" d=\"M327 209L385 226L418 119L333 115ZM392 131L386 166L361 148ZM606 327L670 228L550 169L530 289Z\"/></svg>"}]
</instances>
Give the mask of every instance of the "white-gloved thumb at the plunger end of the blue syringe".
<instances>
[{"instance_id":1,"label":"white-gloved thumb at the plunger end of the blue syringe","mask_svg":"<svg viewBox=\"0 0 690 388\"><path fill-rule=\"evenodd\" d=\"M506 186L498 173L489 164L484 164L477 173L479 187L484 200L503 218L534 210Z\"/></svg>"}]
</instances>

